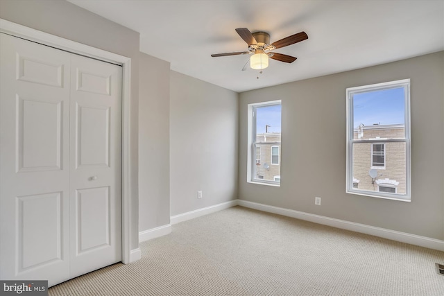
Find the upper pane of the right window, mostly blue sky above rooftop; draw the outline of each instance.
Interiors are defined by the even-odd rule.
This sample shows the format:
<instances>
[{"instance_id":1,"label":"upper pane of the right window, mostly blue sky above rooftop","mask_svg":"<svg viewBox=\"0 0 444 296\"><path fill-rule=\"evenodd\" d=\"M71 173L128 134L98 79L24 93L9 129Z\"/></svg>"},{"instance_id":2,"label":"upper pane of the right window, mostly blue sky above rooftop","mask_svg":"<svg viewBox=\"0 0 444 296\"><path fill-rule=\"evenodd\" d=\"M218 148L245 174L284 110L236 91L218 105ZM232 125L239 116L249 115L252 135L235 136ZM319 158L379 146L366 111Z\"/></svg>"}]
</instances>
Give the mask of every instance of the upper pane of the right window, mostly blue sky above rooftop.
<instances>
[{"instance_id":1,"label":"upper pane of the right window, mostly blue sky above rooftop","mask_svg":"<svg viewBox=\"0 0 444 296\"><path fill-rule=\"evenodd\" d=\"M353 139L404 139L404 88L353 94Z\"/></svg>"}]
</instances>

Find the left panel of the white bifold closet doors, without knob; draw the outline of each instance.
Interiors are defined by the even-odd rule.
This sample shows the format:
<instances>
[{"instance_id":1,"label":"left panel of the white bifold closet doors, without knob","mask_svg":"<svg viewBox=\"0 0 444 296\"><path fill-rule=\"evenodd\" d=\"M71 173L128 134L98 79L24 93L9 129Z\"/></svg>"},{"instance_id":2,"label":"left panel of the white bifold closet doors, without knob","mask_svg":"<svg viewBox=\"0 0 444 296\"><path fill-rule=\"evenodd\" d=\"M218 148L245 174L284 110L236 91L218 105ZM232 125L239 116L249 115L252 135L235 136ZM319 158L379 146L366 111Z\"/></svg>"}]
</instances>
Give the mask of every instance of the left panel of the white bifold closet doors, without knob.
<instances>
[{"instance_id":1,"label":"left panel of the white bifold closet doors, without knob","mask_svg":"<svg viewBox=\"0 0 444 296\"><path fill-rule=\"evenodd\" d=\"M1 279L69 279L69 63L0 33Z\"/></svg>"}]
</instances>

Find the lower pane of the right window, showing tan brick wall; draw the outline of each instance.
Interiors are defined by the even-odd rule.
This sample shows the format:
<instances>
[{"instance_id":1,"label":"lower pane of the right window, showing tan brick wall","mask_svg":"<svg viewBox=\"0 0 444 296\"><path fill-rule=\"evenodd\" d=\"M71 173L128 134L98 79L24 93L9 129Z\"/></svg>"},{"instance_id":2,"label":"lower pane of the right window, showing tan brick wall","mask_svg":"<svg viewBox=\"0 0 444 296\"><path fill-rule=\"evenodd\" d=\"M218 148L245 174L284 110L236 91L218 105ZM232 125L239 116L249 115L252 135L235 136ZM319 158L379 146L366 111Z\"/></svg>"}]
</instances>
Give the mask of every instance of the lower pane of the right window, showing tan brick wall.
<instances>
[{"instance_id":1,"label":"lower pane of the right window, showing tan brick wall","mask_svg":"<svg viewBox=\"0 0 444 296\"><path fill-rule=\"evenodd\" d=\"M377 145L377 144L373 144ZM383 156L371 155L372 143L353 143L353 166L352 177L359 180L359 186L355 187L362 191L381 191L381 186L389 185L396 189L396 193L406 193L406 143L385 143L385 159ZM373 160L373 164L372 164ZM385 162L384 162L385 160ZM377 177L370 177L370 169L382 166L383 169L375 169ZM392 189L388 189L392 190ZM393 191L394 193L395 191Z\"/></svg>"}]
</instances>

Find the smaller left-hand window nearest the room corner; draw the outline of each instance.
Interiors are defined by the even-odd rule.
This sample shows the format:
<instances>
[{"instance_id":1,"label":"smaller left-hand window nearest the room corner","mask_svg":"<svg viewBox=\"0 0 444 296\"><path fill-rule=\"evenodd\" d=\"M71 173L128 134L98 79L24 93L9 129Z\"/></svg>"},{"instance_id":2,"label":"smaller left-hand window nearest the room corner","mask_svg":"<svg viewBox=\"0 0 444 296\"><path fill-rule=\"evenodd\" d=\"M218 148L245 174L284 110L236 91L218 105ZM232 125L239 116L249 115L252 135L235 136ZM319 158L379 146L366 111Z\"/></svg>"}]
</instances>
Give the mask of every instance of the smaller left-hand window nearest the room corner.
<instances>
[{"instance_id":1,"label":"smaller left-hand window nearest the room corner","mask_svg":"<svg viewBox=\"0 0 444 296\"><path fill-rule=\"evenodd\" d=\"M280 101L248 105L247 182L280 185Z\"/></svg>"}]
</instances>

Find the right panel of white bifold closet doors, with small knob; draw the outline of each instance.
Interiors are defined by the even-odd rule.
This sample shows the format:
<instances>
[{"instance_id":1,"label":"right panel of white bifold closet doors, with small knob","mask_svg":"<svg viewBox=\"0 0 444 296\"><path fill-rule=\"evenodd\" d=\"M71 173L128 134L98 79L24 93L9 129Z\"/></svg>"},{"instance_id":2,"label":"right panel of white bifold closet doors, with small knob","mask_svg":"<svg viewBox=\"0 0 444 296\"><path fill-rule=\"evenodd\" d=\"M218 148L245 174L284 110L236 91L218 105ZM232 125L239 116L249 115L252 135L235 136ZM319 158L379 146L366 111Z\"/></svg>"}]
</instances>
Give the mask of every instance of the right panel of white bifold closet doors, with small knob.
<instances>
[{"instance_id":1,"label":"right panel of white bifold closet doors, with small knob","mask_svg":"<svg viewBox=\"0 0 444 296\"><path fill-rule=\"evenodd\" d=\"M71 55L71 275L121 261L121 70Z\"/></svg>"}]
</instances>

